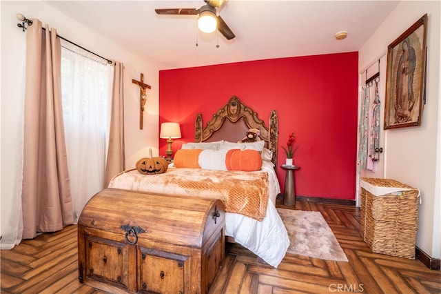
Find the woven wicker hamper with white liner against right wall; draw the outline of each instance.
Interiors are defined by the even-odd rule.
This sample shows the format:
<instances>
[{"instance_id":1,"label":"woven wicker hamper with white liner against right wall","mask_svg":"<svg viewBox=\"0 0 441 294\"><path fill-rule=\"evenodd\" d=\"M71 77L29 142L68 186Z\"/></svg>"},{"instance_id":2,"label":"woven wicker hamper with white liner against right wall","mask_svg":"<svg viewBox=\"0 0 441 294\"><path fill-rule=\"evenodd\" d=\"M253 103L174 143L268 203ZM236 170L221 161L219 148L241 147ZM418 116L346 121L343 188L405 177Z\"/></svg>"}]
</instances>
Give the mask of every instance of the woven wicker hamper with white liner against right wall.
<instances>
[{"instance_id":1,"label":"woven wicker hamper with white liner against right wall","mask_svg":"<svg viewBox=\"0 0 441 294\"><path fill-rule=\"evenodd\" d=\"M393 179L361 181L362 186L396 188L381 196L368 188L361 190L360 233L371 251L415 259L419 190Z\"/></svg>"}]
</instances>

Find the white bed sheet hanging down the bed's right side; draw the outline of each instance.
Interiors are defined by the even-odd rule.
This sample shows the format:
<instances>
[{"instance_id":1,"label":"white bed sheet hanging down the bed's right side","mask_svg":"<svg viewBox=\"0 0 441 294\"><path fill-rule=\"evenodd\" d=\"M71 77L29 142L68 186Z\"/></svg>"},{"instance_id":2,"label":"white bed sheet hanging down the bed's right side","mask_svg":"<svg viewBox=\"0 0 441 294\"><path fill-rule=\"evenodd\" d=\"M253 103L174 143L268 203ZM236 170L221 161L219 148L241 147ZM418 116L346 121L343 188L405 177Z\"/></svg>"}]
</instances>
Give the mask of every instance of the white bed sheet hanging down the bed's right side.
<instances>
[{"instance_id":1,"label":"white bed sheet hanging down the bed's right side","mask_svg":"<svg viewBox=\"0 0 441 294\"><path fill-rule=\"evenodd\" d=\"M262 170L267 170L269 174L270 193L265 218L259 222L237 213L225 213L225 235L233 237L235 242L258 255L267 264L277 268L289 247L289 237L275 206L280 186L274 166L270 162L264 161ZM117 182L115 178L110 182L109 188L126 188L114 184ZM130 190L130 187L126 189ZM148 190L143 191L149 192Z\"/></svg>"}]
</instances>

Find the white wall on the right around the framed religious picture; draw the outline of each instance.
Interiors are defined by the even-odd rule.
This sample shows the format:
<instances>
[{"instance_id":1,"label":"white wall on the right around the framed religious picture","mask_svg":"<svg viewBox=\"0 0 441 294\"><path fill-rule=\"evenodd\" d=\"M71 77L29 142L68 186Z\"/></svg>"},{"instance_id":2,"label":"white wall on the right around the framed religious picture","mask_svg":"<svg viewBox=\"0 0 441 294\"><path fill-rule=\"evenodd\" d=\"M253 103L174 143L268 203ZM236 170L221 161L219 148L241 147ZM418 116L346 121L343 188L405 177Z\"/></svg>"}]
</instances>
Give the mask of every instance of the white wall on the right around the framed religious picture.
<instances>
[{"instance_id":1,"label":"white wall on the right around the framed religious picture","mask_svg":"<svg viewBox=\"0 0 441 294\"><path fill-rule=\"evenodd\" d=\"M387 46L425 13L429 17L427 104L422 125L384 131L384 177L420 189L416 245L440 258L440 1L402 1L360 49L359 68L387 52Z\"/></svg>"}]
</instances>

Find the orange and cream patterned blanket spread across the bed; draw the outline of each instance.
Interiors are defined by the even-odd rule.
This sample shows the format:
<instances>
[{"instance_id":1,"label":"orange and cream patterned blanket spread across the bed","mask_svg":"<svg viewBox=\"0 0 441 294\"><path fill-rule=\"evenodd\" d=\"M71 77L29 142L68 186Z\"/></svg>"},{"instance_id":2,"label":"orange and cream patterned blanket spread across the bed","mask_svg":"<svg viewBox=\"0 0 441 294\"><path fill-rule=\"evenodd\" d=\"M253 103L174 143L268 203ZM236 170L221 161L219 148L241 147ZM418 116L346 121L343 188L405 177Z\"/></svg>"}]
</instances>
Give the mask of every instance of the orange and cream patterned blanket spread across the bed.
<instances>
[{"instance_id":1,"label":"orange and cream patterned blanket spread across the bed","mask_svg":"<svg viewBox=\"0 0 441 294\"><path fill-rule=\"evenodd\" d=\"M109 188L220 199L225 211L258 221L265 217L269 195L265 171L169 168L163 174L141 175L136 170L127 170L116 175Z\"/></svg>"}]
</instances>

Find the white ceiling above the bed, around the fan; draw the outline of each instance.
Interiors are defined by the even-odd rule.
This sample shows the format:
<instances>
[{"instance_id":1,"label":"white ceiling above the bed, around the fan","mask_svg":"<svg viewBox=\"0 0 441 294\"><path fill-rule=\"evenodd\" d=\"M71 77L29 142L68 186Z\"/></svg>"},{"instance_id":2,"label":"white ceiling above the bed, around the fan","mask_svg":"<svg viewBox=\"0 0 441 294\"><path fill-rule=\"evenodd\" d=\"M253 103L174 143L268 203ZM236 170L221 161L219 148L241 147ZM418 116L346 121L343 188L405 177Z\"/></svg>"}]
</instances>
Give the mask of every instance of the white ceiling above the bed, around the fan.
<instances>
[{"instance_id":1,"label":"white ceiling above the bed, around the fan","mask_svg":"<svg viewBox=\"0 0 441 294\"><path fill-rule=\"evenodd\" d=\"M154 12L198 9L203 0L47 3L164 70L358 51L399 1L227 0L218 13L236 35L229 41L198 32L196 15ZM340 31L347 31L346 39L336 40Z\"/></svg>"}]
</instances>

